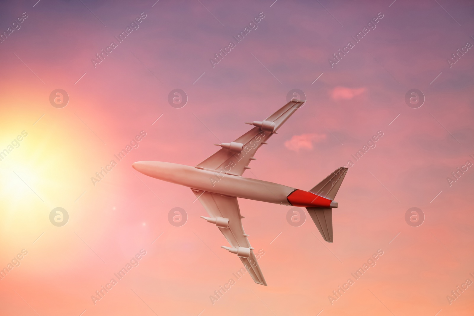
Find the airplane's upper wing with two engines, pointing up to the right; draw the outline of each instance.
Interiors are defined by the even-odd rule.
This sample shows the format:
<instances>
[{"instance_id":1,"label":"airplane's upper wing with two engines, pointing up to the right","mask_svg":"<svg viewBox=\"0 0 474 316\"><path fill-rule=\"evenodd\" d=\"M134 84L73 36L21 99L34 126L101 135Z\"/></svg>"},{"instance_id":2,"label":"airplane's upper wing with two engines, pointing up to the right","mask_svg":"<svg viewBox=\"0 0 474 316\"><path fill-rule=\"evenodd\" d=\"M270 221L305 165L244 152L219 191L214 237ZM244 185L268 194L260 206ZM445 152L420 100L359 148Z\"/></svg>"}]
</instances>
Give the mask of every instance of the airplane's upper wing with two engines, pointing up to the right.
<instances>
[{"instance_id":1,"label":"airplane's upper wing with two engines, pointing up to the right","mask_svg":"<svg viewBox=\"0 0 474 316\"><path fill-rule=\"evenodd\" d=\"M215 144L221 146L218 152L199 163L196 168L219 171L241 176L254 158L255 152L276 130L301 106L305 100L293 99L263 121L246 122L255 126L231 143Z\"/></svg>"}]
</instances>

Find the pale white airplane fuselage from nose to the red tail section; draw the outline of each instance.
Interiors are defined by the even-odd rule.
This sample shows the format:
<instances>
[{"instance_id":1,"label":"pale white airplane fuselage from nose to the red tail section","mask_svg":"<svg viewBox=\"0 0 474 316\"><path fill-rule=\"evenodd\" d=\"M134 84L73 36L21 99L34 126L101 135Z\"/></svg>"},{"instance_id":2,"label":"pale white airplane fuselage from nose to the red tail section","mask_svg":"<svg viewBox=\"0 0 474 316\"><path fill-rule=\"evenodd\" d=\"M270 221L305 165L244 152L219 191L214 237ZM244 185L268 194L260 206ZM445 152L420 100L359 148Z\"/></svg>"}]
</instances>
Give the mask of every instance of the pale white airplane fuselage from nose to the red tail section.
<instances>
[{"instance_id":1,"label":"pale white airplane fuselage from nose to the red tail section","mask_svg":"<svg viewBox=\"0 0 474 316\"><path fill-rule=\"evenodd\" d=\"M137 162L133 168L147 176L191 189L281 205L291 205L287 197L296 190L278 183L210 172L178 163Z\"/></svg>"}]
</instances>

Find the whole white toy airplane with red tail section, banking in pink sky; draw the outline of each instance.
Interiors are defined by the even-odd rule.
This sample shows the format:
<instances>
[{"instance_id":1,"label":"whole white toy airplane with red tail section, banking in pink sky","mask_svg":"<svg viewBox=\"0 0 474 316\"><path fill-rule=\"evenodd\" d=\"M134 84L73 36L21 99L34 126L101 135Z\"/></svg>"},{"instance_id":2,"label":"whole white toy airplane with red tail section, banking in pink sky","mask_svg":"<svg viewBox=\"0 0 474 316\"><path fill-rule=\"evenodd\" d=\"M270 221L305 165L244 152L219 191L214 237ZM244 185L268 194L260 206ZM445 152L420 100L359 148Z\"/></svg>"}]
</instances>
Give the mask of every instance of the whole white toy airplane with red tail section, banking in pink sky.
<instances>
[{"instance_id":1,"label":"whole white toy airplane with red tail section, banking in pink sky","mask_svg":"<svg viewBox=\"0 0 474 316\"><path fill-rule=\"evenodd\" d=\"M237 198L253 199L280 205L304 207L316 224L323 239L333 242L332 208L348 168L340 167L309 191L286 185L242 177L260 146L277 134L278 128L306 100L292 99L263 121L246 122L254 127L230 143L220 146L216 153L194 167L155 161L141 161L132 167L147 176L191 188L209 217L201 216L215 224L226 237L230 247L221 246L237 254L257 284L267 286L253 252L254 248L242 226L242 215Z\"/></svg>"}]
</instances>

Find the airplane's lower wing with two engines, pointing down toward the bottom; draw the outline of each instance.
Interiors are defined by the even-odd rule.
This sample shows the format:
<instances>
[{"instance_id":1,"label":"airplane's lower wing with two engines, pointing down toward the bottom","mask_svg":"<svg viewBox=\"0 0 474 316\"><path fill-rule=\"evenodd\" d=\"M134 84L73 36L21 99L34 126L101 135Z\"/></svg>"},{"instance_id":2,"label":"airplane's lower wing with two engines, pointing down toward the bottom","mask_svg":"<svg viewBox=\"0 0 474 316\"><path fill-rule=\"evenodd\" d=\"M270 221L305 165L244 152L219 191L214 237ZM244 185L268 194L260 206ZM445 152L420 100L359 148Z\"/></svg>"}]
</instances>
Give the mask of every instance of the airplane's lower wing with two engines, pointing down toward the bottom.
<instances>
[{"instance_id":1,"label":"airplane's lower wing with two engines, pointing down toward the bottom","mask_svg":"<svg viewBox=\"0 0 474 316\"><path fill-rule=\"evenodd\" d=\"M231 245L231 247L222 246L222 248L231 253L236 253L255 283L266 286L264 276L253 252L254 248L250 246L247 239L248 235L245 234L244 227L242 227L241 219L244 217L240 215L237 198L201 190L191 190L210 216L201 217L210 223L216 224Z\"/></svg>"}]
</instances>

